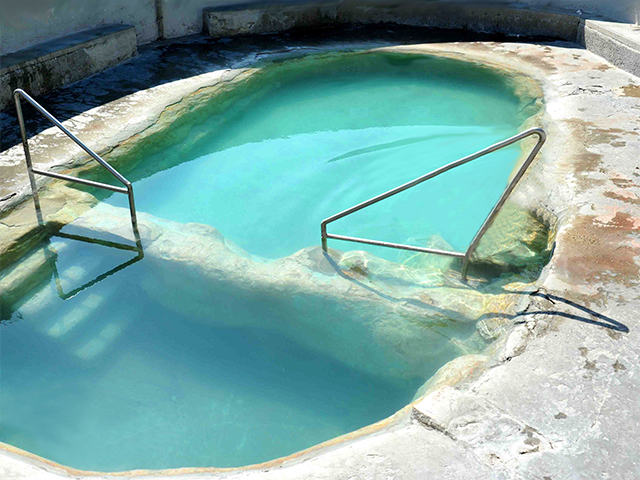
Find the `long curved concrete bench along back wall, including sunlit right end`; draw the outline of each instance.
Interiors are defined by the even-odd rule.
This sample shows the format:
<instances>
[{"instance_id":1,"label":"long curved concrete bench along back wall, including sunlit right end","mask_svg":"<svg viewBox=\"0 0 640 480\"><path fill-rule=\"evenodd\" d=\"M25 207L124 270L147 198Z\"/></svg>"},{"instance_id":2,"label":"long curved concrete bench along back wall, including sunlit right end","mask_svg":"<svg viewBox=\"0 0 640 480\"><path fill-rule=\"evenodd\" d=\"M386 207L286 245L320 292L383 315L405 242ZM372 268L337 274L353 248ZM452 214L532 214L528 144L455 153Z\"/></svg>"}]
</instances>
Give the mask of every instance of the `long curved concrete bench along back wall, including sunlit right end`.
<instances>
[{"instance_id":1,"label":"long curved concrete bench along back wall, including sunlit right end","mask_svg":"<svg viewBox=\"0 0 640 480\"><path fill-rule=\"evenodd\" d=\"M203 16L204 30L212 37L378 23L546 37L583 45L615 66L640 76L640 28L584 19L567 12L450 1L343 0L210 7L204 10Z\"/></svg>"}]
</instances>

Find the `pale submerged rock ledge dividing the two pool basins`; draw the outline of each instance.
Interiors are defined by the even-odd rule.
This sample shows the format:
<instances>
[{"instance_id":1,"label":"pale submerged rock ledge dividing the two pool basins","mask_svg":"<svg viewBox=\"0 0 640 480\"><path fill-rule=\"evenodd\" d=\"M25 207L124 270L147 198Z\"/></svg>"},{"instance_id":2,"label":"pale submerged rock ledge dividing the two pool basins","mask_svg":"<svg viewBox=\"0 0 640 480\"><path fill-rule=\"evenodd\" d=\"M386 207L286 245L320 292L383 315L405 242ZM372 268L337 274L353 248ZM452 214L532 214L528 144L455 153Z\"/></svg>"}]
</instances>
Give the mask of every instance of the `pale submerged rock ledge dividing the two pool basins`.
<instances>
[{"instance_id":1,"label":"pale submerged rock ledge dividing the two pool basins","mask_svg":"<svg viewBox=\"0 0 640 480\"><path fill-rule=\"evenodd\" d=\"M497 227L510 237L504 242L511 251L520 242L512 229L509 234L509 227L522 221L522 215L511 209L505 213ZM356 370L390 380L428 378L437 358L483 351L517 316L518 306L526 303L527 287L533 290L527 276L518 274L468 286L457 272L448 271L448 263L433 262L426 255L408 266L365 252L325 254L320 247L310 247L264 261L207 225L140 213L139 231L146 269L151 272L139 282L167 311L186 313L211 326L275 330ZM128 210L108 205L88 210L63 232L135 242ZM34 263L39 263L42 276L48 275L47 259L39 250L33 255L32 262L19 263L10 272L10 284L19 285L21 279L33 282L33 271L38 269ZM226 321L233 323L221 325L215 312L224 310L225 292L234 299L265 298L264 317L229 318ZM37 308L32 304L38 301L30 300L30 308ZM282 311L294 312L301 323L283 322ZM349 330L358 333L345 337L336 324L342 319L348 319ZM481 328L469 336L465 324L473 329L479 320ZM246 321L251 323L238 323Z\"/></svg>"}]
</instances>

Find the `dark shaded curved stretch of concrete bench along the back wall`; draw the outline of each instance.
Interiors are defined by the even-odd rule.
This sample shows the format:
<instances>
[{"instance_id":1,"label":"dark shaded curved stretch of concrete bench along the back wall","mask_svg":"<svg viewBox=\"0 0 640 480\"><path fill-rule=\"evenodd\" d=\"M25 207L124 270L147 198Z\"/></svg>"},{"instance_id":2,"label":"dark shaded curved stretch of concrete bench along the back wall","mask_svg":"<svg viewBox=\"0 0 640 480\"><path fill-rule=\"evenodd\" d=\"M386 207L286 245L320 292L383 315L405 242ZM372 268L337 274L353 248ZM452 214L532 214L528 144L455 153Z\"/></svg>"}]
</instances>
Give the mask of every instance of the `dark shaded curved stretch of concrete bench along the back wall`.
<instances>
[{"instance_id":1,"label":"dark shaded curved stretch of concrete bench along the back wall","mask_svg":"<svg viewBox=\"0 0 640 480\"><path fill-rule=\"evenodd\" d=\"M213 37L277 33L327 25L389 23L575 41L580 24L579 16L566 11L446 1L249 3L210 7L203 14L204 30Z\"/></svg>"}]
</instances>

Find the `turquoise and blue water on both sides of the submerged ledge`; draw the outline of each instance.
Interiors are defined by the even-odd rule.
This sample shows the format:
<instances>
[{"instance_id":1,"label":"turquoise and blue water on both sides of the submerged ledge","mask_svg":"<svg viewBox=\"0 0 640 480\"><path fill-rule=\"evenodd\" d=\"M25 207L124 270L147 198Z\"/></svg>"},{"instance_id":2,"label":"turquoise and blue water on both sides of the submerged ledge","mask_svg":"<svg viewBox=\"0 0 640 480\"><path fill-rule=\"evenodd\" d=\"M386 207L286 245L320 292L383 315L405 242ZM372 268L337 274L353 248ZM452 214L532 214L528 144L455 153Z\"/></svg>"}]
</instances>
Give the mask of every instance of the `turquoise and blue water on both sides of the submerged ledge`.
<instances>
[{"instance_id":1,"label":"turquoise and blue water on both sides of the submerged ledge","mask_svg":"<svg viewBox=\"0 0 640 480\"><path fill-rule=\"evenodd\" d=\"M519 109L503 78L460 62L286 62L141 142L122 171L139 211L213 225L248 252L278 258L318 244L323 218L513 135ZM416 245L439 235L463 250L518 154L448 172L330 231ZM106 201L126 206L121 195ZM58 287L72 291L133 254L66 239L51 248L61 283L50 274L0 325L0 441L81 469L226 467L291 454L406 405L439 367L470 353L456 342L475 331L441 322L451 347L424 376L376 376L294 334L224 326L238 316L260 324L280 308L265 308L269 299L211 291L208 324L169 312L153 299L162 292L152 298L141 287L158 273L148 258L64 301ZM283 309L284 324L296 325L292 311ZM348 316L333 320L344 335L357 332Z\"/></svg>"}]
</instances>

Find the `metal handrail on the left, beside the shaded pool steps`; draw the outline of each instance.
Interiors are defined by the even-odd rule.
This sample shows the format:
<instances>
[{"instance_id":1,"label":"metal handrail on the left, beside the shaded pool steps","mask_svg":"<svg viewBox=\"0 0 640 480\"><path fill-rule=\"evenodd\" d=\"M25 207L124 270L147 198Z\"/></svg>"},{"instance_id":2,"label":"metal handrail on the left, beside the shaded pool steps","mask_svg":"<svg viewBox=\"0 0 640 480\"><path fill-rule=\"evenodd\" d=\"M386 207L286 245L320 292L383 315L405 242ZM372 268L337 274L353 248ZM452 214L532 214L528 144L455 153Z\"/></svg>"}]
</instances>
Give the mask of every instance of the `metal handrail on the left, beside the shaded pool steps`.
<instances>
[{"instance_id":1,"label":"metal handrail on the left, beside the shaded pool steps","mask_svg":"<svg viewBox=\"0 0 640 480\"><path fill-rule=\"evenodd\" d=\"M87 152L94 160L96 160L100 165L107 169L107 171L116 177L122 184L124 184L124 188L115 187L113 185L109 185L101 182L94 182L92 180L85 180L83 178L71 177L69 175L63 175L61 173L49 172L46 170L39 170L33 168L33 163L31 162L31 153L29 152L29 143L27 141L27 132L24 125L24 117L22 115L22 105L20 103L20 97L24 98L27 102L29 102L33 107L36 108L42 115L44 115L51 123L53 123L56 127L58 127L62 132L73 140L80 148L82 148L85 152ZM42 212L40 209L40 199L38 197L38 187L36 185L36 179L34 174L44 175L46 177L57 178L60 180L67 180L69 182L81 183L82 185L88 185L90 187L103 188L105 190L110 190L112 192L124 193L129 197L129 212L131 214L131 224L133 226L134 232L137 232L138 218L136 215L136 206L133 199L133 186L131 182L123 177L115 168L109 165L102 157L100 157L97 153L87 147L84 143L82 143L73 133L67 130L56 118L47 112L42 105L36 102L31 96L22 90L21 88L17 88L13 91L13 98L16 103L16 111L18 113L18 123L20 124L20 135L22 136L22 146L24 148L24 156L27 163L27 172L29 174L29 182L31 183L31 190L33 192L33 201L36 204L36 216L38 217L38 223L40 225L44 224L42 219Z\"/></svg>"}]
</instances>

